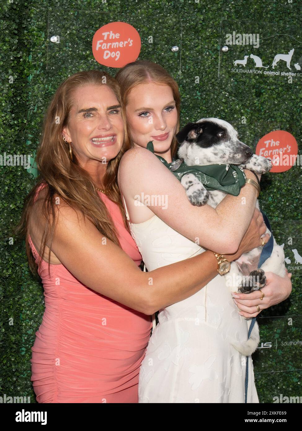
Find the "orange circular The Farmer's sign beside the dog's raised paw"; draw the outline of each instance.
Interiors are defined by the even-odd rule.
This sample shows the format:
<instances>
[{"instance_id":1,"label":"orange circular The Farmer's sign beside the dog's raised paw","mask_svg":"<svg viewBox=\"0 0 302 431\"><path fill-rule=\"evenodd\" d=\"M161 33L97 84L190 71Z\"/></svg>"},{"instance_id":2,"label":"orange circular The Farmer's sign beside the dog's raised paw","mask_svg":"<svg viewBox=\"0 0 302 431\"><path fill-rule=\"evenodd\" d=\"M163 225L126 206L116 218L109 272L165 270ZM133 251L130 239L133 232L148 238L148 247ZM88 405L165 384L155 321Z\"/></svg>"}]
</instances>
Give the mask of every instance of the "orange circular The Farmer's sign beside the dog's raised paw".
<instances>
[{"instance_id":1,"label":"orange circular The Farmer's sign beside the dog's raised paw","mask_svg":"<svg viewBox=\"0 0 302 431\"><path fill-rule=\"evenodd\" d=\"M296 162L298 144L289 132L275 130L260 139L255 154L271 159L273 167L270 172L285 172Z\"/></svg>"}]
</instances>

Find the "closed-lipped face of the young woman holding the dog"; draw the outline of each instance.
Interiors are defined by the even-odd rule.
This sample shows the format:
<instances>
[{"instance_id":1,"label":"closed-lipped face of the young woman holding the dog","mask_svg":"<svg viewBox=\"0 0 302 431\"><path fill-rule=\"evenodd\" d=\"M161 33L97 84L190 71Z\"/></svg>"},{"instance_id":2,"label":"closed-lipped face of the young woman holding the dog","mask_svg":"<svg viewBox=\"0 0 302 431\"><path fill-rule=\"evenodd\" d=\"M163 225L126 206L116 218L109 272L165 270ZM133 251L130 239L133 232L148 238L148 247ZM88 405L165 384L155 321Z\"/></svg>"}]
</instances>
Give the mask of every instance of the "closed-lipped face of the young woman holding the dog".
<instances>
[{"instance_id":1,"label":"closed-lipped face of the young woman holding the dog","mask_svg":"<svg viewBox=\"0 0 302 431\"><path fill-rule=\"evenodd\" d=\"M171 87L149 82L132 88L126 115L134 147L146 148L153 141L154 152L171 161L170 147L177 126Z\"/></svg>"}]
</instances>

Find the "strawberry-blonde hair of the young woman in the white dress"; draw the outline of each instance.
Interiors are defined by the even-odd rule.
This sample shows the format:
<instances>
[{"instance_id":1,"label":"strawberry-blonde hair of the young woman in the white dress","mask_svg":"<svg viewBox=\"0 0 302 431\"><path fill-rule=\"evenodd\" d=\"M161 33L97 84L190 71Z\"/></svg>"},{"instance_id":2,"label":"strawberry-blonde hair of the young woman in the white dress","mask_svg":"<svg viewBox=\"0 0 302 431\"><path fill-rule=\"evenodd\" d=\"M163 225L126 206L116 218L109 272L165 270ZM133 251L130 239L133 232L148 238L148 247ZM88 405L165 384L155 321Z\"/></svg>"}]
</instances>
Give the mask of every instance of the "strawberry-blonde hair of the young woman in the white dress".
<instances>
[{"instance_id":1,"label":"strawberry-blonde hair of the young woman in the white dress","mask_svg":"<svg viewBox=\"0 0 302 431\"><path fill-rule=\"evenodd\" d=\"M121 88L121 107L125 121L125 143L127 147L133 147L131 142L130 127L126 116L126 106L128 103L128 94L130 91L139 84L147 84L148 82L155 82L156 84L168 85L173 93L175 106L177 109L177 126L176 132L179 131L179 117L180 117L180 104L181 97L177 82L168 74L168 72L159 64L148 60L137 60L128 63L118 71L115 76ZM174 136L171 143L171 157L172 159L177 152L177 140Z\"/></svg>"}]
</instances>

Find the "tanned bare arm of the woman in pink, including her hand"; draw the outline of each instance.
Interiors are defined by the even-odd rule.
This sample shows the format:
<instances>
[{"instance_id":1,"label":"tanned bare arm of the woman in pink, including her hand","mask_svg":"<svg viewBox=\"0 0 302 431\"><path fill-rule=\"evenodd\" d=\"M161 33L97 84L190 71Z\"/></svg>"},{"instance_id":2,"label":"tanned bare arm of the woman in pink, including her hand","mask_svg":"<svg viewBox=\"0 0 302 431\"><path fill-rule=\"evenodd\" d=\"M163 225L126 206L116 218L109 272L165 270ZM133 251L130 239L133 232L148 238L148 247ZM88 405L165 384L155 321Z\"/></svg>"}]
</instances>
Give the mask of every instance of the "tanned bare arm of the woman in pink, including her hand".
<instances>
[{"instance_id":1,"label":"tanned bare arm of the woman in pink, including her hand","mask_svg":"<svg viewBox=\"0 0 302 431\"><path fill-rule=\"evenodd\" d=\"M37 213L36 216L40 221L38 228L44 232L41 216ZM261 213L255 210L245 235L248 240L238 250L238 256L231 257L237 259L259 244L266 229L261 220ZM81 283L147 315L190 297L218 275L212 251L142 272L120 247L104 238L92 222L62 203L62 199L56 206L51 250Z\"/></svg>"}]
</instances>

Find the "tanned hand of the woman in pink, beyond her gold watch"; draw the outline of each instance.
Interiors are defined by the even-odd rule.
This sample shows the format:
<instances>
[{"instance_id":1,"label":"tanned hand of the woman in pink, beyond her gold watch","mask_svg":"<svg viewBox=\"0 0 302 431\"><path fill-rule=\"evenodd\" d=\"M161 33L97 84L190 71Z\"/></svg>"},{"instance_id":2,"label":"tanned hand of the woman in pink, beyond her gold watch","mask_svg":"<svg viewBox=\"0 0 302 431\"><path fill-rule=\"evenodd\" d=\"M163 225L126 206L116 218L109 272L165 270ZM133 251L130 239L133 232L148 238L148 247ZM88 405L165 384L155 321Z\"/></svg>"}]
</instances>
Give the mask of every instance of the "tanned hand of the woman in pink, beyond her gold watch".
<instances>
[{"instance_id":1,"label":"tanned hand of the woman in pink, beyond her gold watch","mask_svg":"<svg viewBox=\"0 0 302 431\"><path fill-rule=\"evenodd\" d=\"M247 253L248 251L253 250L254 248L260 247L261 246L260 238L263 234L265 234L265 232L266 232L266 225L263 220L263 215L257 208L255 208L250 225L247 228L247 231L244 234L244 237L242 238L241 243L239 244L237 252L233 254L224 254L224 257L229 262L232 262L233 260L236 260L240 256L242 256L243 253ZM270 234L265 234L263 239L265 240L265 242L268 242L268 240L270 239Z\"/></svg>"}]
</instances>

